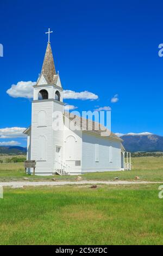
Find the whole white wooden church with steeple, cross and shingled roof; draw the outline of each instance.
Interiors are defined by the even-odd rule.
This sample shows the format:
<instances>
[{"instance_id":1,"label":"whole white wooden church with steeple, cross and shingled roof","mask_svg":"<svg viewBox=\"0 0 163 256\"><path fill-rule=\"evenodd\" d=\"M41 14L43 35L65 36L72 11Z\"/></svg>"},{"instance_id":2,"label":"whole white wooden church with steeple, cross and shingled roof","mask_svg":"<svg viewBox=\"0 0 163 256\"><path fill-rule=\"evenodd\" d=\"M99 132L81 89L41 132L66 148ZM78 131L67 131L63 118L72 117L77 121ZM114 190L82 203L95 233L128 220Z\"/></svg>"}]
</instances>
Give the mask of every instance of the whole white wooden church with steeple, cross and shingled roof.
<instances>
[{"instance_id":1,"label":"whole white wooden church with steeple, cross and shingled roof","mask_svg":"<svg viewBox=\"0 0 163 256\"><path fill-rule=\"evenodd\" d=\"M32 123L24 134L28 136L27 160L36 161L36 175L131 169L130 153L125 151L121 138L112 132L102 136L101 129L95 129L95 121L71 116L65 111L63 88L55 71L49 40L41 75L33 87ZM62 129L54 129L56 112L61 113ZM67 120L77 129L71 129ZM98 124L98 127L101 126ZM33 173L33 168L28 168L28 173Z\"/></svg>"}]
</instances>

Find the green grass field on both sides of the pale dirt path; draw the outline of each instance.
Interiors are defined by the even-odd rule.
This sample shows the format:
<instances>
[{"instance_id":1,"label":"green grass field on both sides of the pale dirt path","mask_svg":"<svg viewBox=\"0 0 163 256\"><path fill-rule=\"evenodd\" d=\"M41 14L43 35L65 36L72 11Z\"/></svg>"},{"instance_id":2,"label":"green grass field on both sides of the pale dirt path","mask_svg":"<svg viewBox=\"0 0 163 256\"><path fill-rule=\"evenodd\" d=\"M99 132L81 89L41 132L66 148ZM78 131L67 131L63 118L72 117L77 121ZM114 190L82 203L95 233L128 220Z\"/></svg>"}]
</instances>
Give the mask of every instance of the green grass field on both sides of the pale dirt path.
<instances>
[{"instance_id":1,"label":"green grass field on both sides of the pale dirt path","mask_svg":"<svg viewBox=\"0 0 163 256\"><path fill-rule=\"evenodd\" d=\"M91 173L87 180L162 181L163 157L134 157L126 172ZM23 163L0 164L0 181L23 180ZM58 176L75 180L76 176ZM30 181L54 176L30 176ZM160 184L159 184L160 185ZM163 245L159 185L71 185L4 188L0 245Z\"/></svg>"}]
</instances>

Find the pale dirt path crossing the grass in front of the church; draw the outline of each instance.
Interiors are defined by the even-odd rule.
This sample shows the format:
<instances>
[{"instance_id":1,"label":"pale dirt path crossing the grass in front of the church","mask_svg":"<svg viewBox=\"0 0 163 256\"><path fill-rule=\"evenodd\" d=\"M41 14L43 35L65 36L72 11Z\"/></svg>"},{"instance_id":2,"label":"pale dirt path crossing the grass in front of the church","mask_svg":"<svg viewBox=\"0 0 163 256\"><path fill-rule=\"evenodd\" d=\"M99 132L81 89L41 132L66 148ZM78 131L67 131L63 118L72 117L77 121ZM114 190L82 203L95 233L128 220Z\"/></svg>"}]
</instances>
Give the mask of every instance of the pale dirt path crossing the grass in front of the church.
<instances>
[{"instance_id":1,"label":"pale dirt path crossing the grass in front of the church","mask_svg":"<svg viewBox=\"0 0 163 256\"><path fill-rule=\"evenodd\" d=\"M86 185L86 184L106 184L106 185L130 185L130 184L163 184L163 181L9 181L0 182L0 186L18 188L24 186L63 186L63 185Z\"/></svg>"}]
</instances>

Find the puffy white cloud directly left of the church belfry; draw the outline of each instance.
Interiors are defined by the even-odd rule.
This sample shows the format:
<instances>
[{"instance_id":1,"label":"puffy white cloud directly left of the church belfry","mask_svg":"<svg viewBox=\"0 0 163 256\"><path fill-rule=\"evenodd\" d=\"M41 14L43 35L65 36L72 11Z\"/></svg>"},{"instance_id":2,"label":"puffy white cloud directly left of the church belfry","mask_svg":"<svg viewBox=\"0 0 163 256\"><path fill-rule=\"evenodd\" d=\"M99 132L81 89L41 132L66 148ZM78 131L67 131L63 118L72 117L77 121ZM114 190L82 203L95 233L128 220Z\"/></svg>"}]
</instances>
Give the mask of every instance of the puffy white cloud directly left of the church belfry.
<instances>
[{"instance_id":1,"label":"puffy white cloud directly left of the church belfry","mask_svg":"<svg viewBox=\"0 0 163 256\"><path fill-rule=\"evenodd\" d=\"M33 86L36 82L32 81L20 81L17 84L12 84L11 88L7 90L7 94L11 97L24 97L31 99L33 97Z\"/></svg>"}]
</instances>

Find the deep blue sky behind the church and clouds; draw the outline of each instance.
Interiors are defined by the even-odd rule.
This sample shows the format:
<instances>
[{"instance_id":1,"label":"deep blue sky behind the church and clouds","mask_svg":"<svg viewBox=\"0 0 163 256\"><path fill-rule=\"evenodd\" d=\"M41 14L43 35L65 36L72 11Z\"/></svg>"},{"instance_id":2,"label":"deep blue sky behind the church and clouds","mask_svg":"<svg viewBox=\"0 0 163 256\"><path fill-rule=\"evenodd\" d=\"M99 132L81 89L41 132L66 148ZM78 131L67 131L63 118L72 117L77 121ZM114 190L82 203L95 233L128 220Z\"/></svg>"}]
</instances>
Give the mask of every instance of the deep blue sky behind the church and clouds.
<instances>
[{"instance_id":1,"label":"deep blue sky behind the church and clouds","mask_svg":"<svg viewBox=\"0 0 163 256\"><path fill-rule=\"evenodd\" d=\"M111 107L112 131L148 131L163 136L162 1L1 0L0 128L27 127L31 100L11 97L20 81L36 81L47 45L48 27L55 68L65 90L98 95L98 100L65 100L77 110ZM111 102L114 95L118 101ZM4 136L0 144L24 138ZM8 137L8 138L7 138ZM9 138L10 137L10 138Z\"/></svg>"}]
</instances>

